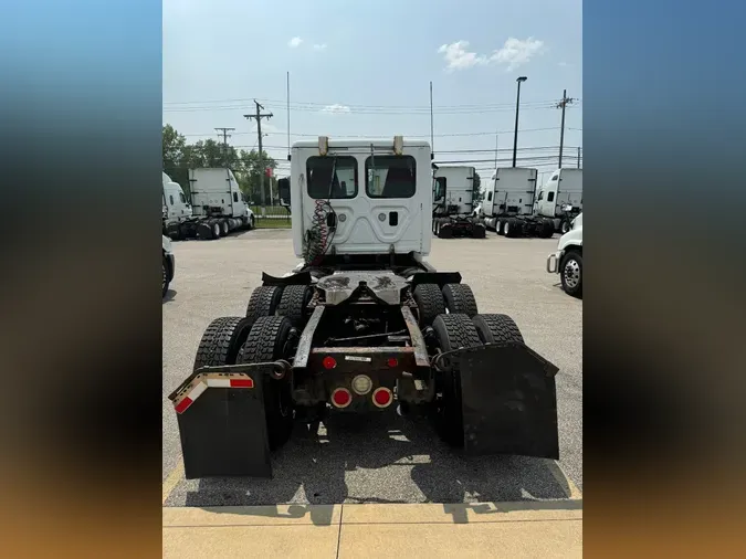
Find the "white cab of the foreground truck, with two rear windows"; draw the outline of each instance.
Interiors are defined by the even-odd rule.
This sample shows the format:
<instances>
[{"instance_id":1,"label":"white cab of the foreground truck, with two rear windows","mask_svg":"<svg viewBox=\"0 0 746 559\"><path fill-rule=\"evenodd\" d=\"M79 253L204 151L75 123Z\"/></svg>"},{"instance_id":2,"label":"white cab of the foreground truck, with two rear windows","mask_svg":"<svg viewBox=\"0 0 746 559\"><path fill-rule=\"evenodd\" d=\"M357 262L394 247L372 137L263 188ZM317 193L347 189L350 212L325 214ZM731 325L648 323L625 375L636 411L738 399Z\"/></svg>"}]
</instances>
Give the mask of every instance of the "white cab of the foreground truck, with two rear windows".
<instances>
[{"instance_id":1,"label":"white cab of the foreground truck, with two rear windows","mask_svg":"<svg viewBox=\"0 0 746 559\"><path fill-rule=\"evenodd\" d=\"M430 146L425 141L297 141L280 198L291 200L298 257L430 253Z\"/></svg>"}]
</instances>

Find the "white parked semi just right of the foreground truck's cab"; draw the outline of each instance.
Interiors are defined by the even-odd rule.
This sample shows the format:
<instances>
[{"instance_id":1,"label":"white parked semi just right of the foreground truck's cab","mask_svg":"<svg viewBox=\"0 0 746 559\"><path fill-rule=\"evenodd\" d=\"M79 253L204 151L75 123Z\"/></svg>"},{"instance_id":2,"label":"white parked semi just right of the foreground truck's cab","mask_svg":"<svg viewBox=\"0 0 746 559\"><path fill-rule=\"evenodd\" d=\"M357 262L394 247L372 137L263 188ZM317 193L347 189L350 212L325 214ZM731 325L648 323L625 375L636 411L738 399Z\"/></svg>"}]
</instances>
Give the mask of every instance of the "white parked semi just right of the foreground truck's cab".
<instances>
[{"instance_id":1,"label":"white parked semi just right of the foreground truck's cab","mask_svg":"<svg viewBox=\"0 0 746 559\"><path fill-rule=\"evenodd\" d=\"M473 217L474 167L432 167L432 232L441 239L484 239L484 224Z\"/></svg>"}]
</instances>

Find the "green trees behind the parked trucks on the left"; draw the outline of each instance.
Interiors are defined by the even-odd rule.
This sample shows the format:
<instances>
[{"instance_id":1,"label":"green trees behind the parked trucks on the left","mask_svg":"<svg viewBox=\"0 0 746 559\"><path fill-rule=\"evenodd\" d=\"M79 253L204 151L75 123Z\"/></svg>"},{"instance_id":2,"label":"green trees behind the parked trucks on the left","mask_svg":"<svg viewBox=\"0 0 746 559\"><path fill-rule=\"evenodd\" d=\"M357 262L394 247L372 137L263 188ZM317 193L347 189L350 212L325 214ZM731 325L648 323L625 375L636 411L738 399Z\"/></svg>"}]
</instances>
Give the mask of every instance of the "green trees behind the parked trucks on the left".
<instances>
[{"instance_id":1,"label":"green trees behind the parked trucks on the left","mask_svg":"<svg viewBox=\"0 0 746 559\"><path fill-rule=\"evenodd\" d=\"M164 172L168 175L174 182L178 182L183 191L189 197L189 169L223 167L225 161L235 175L235 180L239 182L241 191L248 202L260 204L261 189L260 177L266 169L272 169L272 178L264 176L264 194L266 200L264 203L271 203L272 192L276 200L277 187L274 170L277 168L277 162L270 157L266 151L263 151L262 161L260 162L259 152L255 149L246 151L245 149L237 150L232 146L228 146L228 150L223 148L223 144L214 139L198 140L195 144L188 144L187 138L179 134L170 124L164 126L162 131L164 144Z\"/></svg>"}]
</instances>

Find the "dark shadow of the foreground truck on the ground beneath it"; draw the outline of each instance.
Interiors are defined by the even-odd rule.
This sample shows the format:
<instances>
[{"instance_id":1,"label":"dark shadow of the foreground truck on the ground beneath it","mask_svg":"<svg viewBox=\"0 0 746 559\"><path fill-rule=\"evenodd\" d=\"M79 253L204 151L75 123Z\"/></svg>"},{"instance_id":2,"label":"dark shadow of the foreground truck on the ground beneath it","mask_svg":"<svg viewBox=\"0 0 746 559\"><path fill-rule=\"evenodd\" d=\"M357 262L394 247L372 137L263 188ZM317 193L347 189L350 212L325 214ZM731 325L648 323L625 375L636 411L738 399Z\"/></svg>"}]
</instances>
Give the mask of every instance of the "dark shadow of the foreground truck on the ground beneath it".
<instances>
[{"instance_id":1,"label":"dark shadow of the foreground truck on the ground beneath it","mask_svg":"<svg viewBox=\"0 0 746 559\"><path fill-rule=\"evenodd\" d=\"M272 456L272 479L187 482L186 505L292 504L276 516L295 518L305 514L306 504L444 503L459 505L451 507L458 521L456 516L465 518L465 507L471 507L464 504L525 502L535 506L537 499L570 495L554 461L464 456L442 443L425 419L395 413L330 418L317 432L298 429ZM323 524L326 509L314 513L321 515L314 524Z\"/></svg>"}]
</instances>

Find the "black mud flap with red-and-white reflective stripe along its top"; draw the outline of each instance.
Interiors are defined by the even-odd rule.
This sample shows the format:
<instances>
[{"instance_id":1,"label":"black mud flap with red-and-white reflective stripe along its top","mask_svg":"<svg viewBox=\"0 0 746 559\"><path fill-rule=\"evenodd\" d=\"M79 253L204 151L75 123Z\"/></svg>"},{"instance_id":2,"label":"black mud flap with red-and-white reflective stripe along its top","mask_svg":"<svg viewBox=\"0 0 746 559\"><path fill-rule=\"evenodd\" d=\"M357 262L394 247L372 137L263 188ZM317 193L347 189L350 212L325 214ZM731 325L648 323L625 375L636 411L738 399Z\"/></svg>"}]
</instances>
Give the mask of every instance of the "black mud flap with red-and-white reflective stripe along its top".
<instances>
[{"instance_id":1,"label":"black mud flap with red-and-white reflective stripe along its top","mask_svg":"<svg viewBox=\"0 0 746 559\"><path fill-rule=\"evenodd\" d=\"M272 363L206 367L169 395L176 404L187 479L272 477L262 395L265 375L272 370ZM231 377L251 388L225 387ZM185 402L190 391L199 397Z\"/></svg>"}]
</instances>

